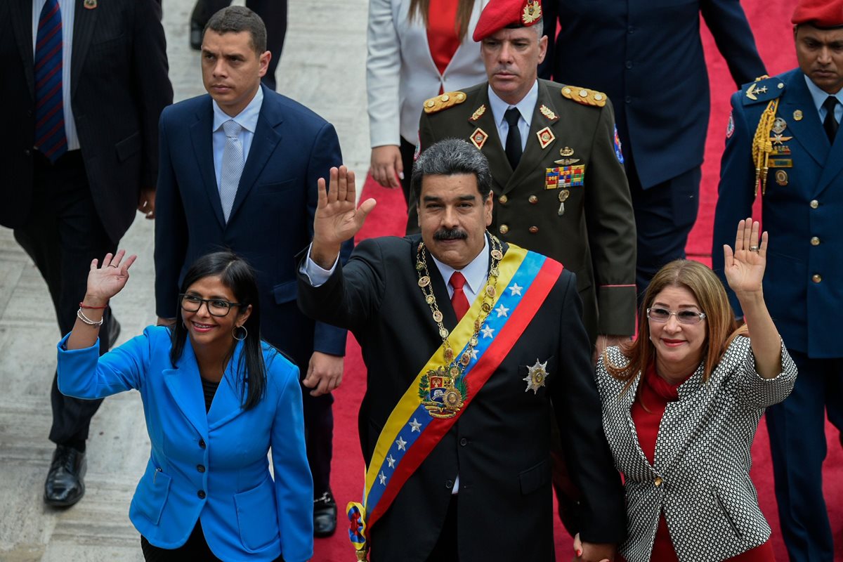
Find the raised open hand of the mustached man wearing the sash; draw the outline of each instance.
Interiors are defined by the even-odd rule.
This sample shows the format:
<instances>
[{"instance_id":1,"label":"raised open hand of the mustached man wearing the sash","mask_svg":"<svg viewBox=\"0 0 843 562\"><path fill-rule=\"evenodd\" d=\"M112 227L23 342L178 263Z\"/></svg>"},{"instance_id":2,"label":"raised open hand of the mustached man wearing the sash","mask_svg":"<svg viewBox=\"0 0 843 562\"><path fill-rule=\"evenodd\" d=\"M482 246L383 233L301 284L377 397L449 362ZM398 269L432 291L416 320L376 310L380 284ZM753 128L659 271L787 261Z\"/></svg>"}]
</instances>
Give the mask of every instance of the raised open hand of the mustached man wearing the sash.
<instances>
[{"instance_id":1,"label":"raised open hand of the mustached man wearing the sash","mask_svg":"<svg viewBox=\"0 0 843 562\"><path fill-rule=\"evenodd\" d=\"M319 202L314 216L314 242L310 257L318 265L329 269L340 253L341 244L359 232L376 203L368 199L357 207L354 172L345 166L330 169L330 189L325 190L324 178L319 178L317 187Z\"/></svg>"}]
</instances>

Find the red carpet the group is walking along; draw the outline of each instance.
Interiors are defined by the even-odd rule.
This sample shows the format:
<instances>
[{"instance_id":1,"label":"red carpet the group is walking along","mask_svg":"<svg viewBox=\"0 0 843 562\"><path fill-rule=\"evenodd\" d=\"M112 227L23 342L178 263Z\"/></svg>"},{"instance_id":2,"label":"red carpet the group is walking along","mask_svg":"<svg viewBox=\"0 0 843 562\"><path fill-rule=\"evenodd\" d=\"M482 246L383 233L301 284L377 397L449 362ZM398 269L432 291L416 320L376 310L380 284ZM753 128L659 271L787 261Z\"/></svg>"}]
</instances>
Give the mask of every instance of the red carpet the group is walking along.
<instances>
[{"instance_id":1,"label":"red carpet the group is walking along","mask_svg":"<svg viewBox=\"0 0 843 562\"><path fill-rule=\"evenodd\" d=\"M744 9L752 24L756 43L768 72L773 75L796 67L791 26L792 0L744 0ZM700 213L688 242L688 254L694 259L711 265L711 224L717 201L717 179L720 173L720 155L725 138L729 113L729 95L734 83L725 61L714 47L707 30L703 35L711 78L711 123L706 144L706 163L703 166ZM586 84L587 85L587 84ZM693 93L689 93L693 95ZM749 189L749 188L748 188ZM369 179L362 198L374 197L378 206L368 217L358 239L400 234L404 232L405 206L400 191L385 190ZM759 216L756 213L756 217ZM360 349L349 338L346 356L346 374L342 386L336 391L334 415L334 463L331 481L341 514L337 533L332 538L318 539L314 560L318 562L351 562L354 559L351 543L346 533L344 510L350 500L359 501L362 495L363 463L357 439L357 408L362 399L365 370ZM835 533L835 560L843 561L843 451L835 429L827 428L829 456L824 468L825 497L830 506L832 529ZM752 477L758 489L761 509L773 528L773 545L776 559L787 560L784 543L778 529L776 498L768 446L767 431L762 421L753 447L754 468ZM408 529L408 532L410 530ZM556 520L556 558L569 560L572 556L571 538ZM395 562L400 562L396 560Z\"/></svg>"}]
</instances>

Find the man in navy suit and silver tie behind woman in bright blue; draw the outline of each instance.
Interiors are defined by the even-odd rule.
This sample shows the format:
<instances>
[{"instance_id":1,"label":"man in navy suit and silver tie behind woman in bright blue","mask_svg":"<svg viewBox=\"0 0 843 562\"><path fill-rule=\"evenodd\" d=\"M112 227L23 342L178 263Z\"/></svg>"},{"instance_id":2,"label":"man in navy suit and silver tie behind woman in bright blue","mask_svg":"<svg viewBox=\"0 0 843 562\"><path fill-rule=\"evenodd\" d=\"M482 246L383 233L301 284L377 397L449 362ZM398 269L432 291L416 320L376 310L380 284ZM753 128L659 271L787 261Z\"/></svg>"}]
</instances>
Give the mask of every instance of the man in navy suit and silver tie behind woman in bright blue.
<instances>
[{"instance_id":1,"label":"man in navy suit and silver tie behind woman in bright blue","mask_svg":"<svg viewBox=\"0 0 843 562\"><path fill-rule=\"evenodd\" d=\"M202 38L202 78L209 95L161 115L155 225L159 322L177 317L178 287L202 254L232 249L255 267L260 329L298 364L314 475L314 534L336 528L330 493L333 415L330 391L342 378L346 330L314 323L296 306L294 255L309 244L316 182L341 163L327 121L260 85L271 53L266 28L249 8L224 8ZM344 255L351 252L347 244Z\"/></svg>"}]
</instances>

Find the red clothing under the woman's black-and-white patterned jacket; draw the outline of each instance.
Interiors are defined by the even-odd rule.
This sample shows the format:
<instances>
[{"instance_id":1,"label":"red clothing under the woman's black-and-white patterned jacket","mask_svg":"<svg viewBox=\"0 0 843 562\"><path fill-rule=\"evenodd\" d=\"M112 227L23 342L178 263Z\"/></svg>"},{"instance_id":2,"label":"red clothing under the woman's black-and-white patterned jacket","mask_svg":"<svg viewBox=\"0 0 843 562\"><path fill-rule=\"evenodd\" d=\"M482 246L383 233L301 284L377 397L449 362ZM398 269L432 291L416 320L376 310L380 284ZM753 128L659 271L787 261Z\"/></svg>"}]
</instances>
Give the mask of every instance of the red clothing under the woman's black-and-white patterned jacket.
<instances>
[{"instance_id":1,"label":"red clothing under the woman's black-and-white patterned jacket","mask_svg":"<svg viewBox=\"0 0 843 562\"><path fill-rule=\"evenodd\" d=\"M664 409L667 408L668 402L675 402L679 399L679 385L688 380L689 377L690 375L676 384L668 383L658 376L655 364L651 363L647 367L641 383L639 383L638 396L635 403L632 404L631 415L638 433L638 444L650 464L656 457L658 426L662 423ZM644 409L644 406L647 409ZM652 545L650 560L651 562L679 562L674 544L670 540L670 532L668 531L668 523L664 519L664 513L658 518L656 541ZM770 541L767 541L728 560L731 562L775 562L776 559L773 556Z\"/></svg>"}]
</instances>

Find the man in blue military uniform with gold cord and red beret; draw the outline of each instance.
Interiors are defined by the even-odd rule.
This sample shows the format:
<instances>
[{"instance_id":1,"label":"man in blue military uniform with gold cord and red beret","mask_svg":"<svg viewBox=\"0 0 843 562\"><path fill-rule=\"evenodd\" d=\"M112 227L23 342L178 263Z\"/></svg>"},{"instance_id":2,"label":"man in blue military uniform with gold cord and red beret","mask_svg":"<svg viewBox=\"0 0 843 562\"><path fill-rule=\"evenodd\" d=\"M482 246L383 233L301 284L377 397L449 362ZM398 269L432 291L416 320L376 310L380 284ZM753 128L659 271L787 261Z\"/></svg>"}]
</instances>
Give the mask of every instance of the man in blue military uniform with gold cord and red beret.
<instances>
[{"instance_id":1,"label":"man in blue military uniform with gold cord and red beret","mask_svg":"<svg viewBox=\"0 0 843 562\"><path fill-rule=\"evenodd\" d=\"M830 562L822 466L825 415L843 429L843 0L800 0L792 22L799 67L732 97L711 255L722 276L722 246L760 193L776 241L764 292L799 369L766 414L781 533L792 561Z\"/></svg>"}]
</instances>

